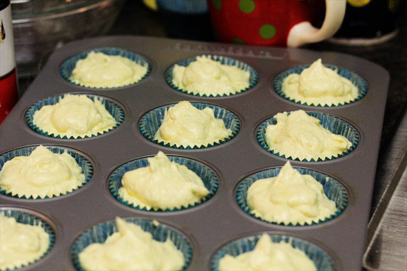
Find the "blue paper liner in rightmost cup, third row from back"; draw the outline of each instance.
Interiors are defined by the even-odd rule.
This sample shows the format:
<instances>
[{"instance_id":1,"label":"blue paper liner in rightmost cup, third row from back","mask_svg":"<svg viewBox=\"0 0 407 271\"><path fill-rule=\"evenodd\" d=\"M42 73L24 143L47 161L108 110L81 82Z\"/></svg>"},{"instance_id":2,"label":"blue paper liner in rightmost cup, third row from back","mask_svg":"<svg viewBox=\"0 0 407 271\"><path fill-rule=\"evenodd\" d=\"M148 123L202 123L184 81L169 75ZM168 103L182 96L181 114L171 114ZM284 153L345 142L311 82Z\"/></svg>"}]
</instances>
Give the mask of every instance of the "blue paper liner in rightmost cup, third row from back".
<instances>
[{"instance_id":1,"label":"blue paper liner in rightmost cup, third row from back","mask_svg":"<svg viewBox=\"0 0 407 271\"><path fill-rule=\"evenodd\" d=\"M321 183L321 185L324 187L324 194L326 195L326 197L328 197L328 199L330 199L331 201L335 201L337 211L330 217L326 217L326 219L319 220L317 222L312 221L312 223L304 223L303 225L301 225L300 223L292 224L267 221L257 216L256 214L252 213L248 208L247 204L247 192L248 189L250 188L250 185L252 185L253 183L255 183L255 181L258 181L260 179L277 177L280 170L281 168L270 168L268 170L262 170L260 172L251 174L250 176L246 177L243 181L241 181L236 191L236 200L241 210L244 210L246 214L249 214L251 217L255 217L256 219L259 219L261 221L277 225L288 225L288 226L317 225L319 223L324 223L326 221L335 219L342 212L344 212L346 206L348 205L348 193L346 192L346 188L344 188L344 185L342 185L341 183L339 183L339 181L333 179L332 177L324 173L317 172L314 170L308 170L306 168L295 168L295 170L297 170L299 173L303 175L310 175L311 177L316 179L319 183Z\"/></svg>"}]
</instances>

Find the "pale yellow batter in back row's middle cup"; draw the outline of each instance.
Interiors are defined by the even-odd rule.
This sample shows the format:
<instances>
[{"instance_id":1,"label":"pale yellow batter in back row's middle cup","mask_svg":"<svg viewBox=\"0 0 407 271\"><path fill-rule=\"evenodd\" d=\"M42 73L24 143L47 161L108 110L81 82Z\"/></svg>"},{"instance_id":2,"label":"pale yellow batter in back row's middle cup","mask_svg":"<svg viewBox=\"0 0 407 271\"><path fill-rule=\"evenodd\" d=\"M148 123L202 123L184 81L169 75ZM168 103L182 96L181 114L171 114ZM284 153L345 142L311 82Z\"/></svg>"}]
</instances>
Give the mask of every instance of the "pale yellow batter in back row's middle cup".
<instances>
[{"instance_id":1,"label":"pale yellow batter in back row's middle cup","mask_svg":"<svg viewBox=\"0 0 407 271\"><path fill-rule=\"evenodd\" d=\"M175 65L172 83L188 93L206 96L230 95L249 86L250 72L214 61L205 55L188 66Z\"/></svg>"}]
</instances>

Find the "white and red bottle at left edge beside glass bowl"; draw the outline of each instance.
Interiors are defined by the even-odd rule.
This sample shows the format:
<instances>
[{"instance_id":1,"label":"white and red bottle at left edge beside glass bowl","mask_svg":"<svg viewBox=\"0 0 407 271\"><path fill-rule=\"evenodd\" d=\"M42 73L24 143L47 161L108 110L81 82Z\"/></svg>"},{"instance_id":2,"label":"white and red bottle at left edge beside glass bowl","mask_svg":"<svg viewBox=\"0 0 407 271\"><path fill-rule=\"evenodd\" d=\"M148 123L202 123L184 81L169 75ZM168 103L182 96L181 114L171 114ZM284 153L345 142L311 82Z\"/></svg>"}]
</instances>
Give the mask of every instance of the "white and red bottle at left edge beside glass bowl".
<instances>
[{"instance_id":1,"label":"white and red bottle at left edge beside glass bowl","mask_svg":"<svg viewBox=\"0 0 407 271\"><path fill-rule=\"evenodd\" d=\"M10 1L0 2L0 123L18 99Z\"/></svg>"}]
</instances>

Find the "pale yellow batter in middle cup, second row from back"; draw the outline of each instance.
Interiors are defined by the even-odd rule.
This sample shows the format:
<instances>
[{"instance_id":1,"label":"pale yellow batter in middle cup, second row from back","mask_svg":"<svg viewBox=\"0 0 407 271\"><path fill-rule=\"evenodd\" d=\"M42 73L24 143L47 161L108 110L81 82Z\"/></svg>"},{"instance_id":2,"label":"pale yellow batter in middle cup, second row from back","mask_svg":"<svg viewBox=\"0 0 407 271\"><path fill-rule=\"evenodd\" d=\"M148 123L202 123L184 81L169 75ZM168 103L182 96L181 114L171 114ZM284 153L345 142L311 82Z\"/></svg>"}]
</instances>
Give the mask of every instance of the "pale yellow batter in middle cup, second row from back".
<instances>
[{"instance_id":1,"label":"pale yellow batter in middle cup, second row from back","mask_svg":"<svg viewBox=\"0 0 407 271\"><path fill-rule=\"evenodd\" d=\"M188 101L180 101L169 108L154 139L165 144L207 146L219 143L232 135L222 119L216 119L212 108L199 110Z\"/></svg>"}]
</instances>

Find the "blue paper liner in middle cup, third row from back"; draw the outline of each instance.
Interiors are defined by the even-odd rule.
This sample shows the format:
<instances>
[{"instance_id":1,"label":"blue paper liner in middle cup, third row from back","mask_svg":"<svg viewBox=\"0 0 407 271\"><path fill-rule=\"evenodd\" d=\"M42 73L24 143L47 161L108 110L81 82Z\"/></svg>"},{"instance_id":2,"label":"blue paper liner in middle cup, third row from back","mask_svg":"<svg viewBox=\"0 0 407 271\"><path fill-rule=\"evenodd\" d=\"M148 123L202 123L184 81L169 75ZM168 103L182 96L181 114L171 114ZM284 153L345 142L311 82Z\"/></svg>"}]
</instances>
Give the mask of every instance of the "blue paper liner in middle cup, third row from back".
<instances>
[{"instance_id":1,"label":"blue paper liner in middle cup, third row from back","mask_svg":"<svg viewBox=\"0 0 407 271\"><path fill-rule=\"evenodd\" d=\"M206 197L203 197L199 202L189 204L188 207L181 206L181 208L174 208L174 209L169 209L166 208L163 210L162 208L151 208L150 210L147 210L145 207L140 208L139 205L134 205L132 203L129 203L125 199L123 199L119 195L119 189L123 186L121 184L121 179L123 178L123 175L130 171L130 170L135 170L137 168L145 168L149 165L147 158L141 158L141 159L136 159L133 161L130 161L128 163L125 163L124 165L121 165L119 168L117 168L112 174L110 175L108 179L108 187L110 190L110 193L112 193L112 196L117 199L120 203L123 203L124 205L128 205L132 208L138 209L138 210L143 210L143 211L148 211L148 212L174 212L174 211L179 211L179 210L186 210L192 207L195 207L197 205L200 205L201 203L208 201L211 199L215 193L217 192L217 189L219 187L219 182L217 178L217 174L215 173L214 170L208 167L208 165L205 165L201 162L188 159L185 157L175 157L175 156L170 156L168 155L168 159L170 161L173 161L175 163L178 163L179 165L185 165L189 170L192 170L195 172L199 178L203 181L203 185L205 185L206 189L209 190L209 194L206 195Z\"/></svg>"}]
</instances>

